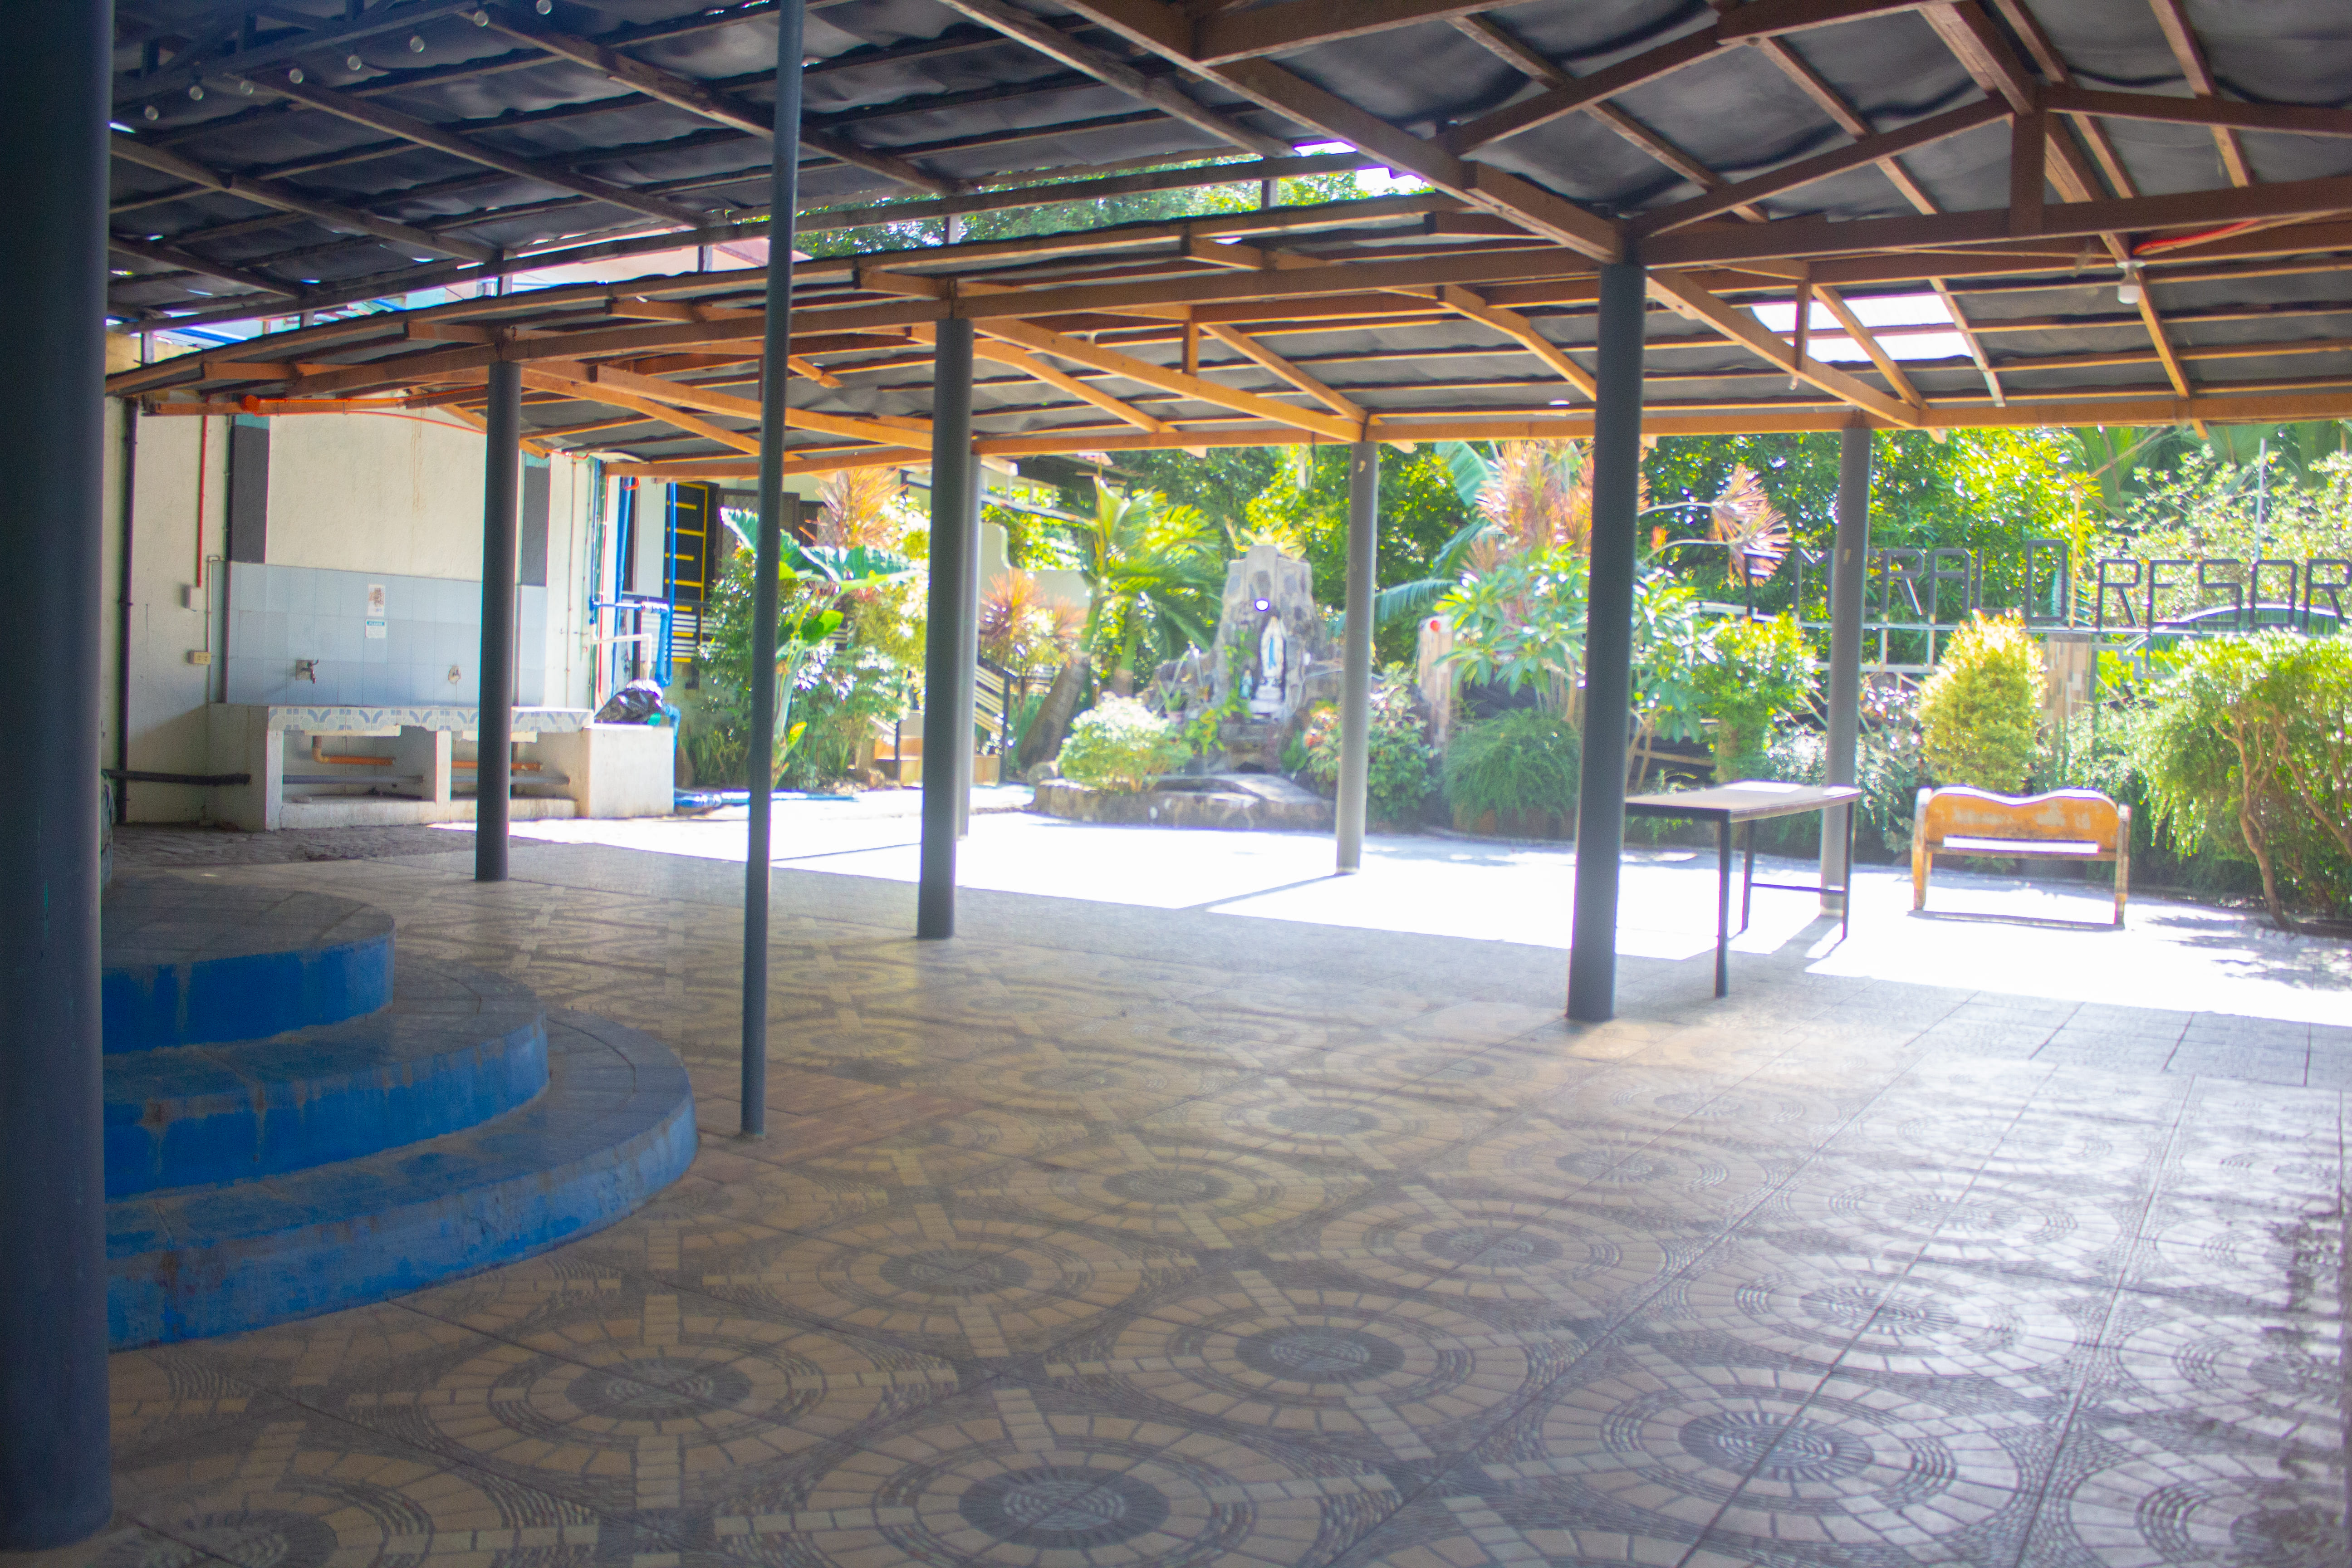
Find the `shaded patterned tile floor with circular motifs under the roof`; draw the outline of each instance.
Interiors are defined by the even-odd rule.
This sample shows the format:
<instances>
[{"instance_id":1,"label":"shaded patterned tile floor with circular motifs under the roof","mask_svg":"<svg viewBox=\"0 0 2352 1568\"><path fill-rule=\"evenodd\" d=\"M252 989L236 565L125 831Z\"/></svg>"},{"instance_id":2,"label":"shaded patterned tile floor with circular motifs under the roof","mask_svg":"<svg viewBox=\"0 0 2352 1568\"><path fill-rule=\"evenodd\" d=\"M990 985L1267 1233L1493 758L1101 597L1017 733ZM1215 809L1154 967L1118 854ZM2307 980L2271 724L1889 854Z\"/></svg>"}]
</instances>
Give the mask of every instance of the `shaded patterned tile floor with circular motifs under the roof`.
<instances>
[{"instance_id":1,"label":"shaded patterned tile floor with circular motifs under the roof","mask_svg":"<svg viewBox=\"0 0 2352 1568\"><path fill-rule=\"evenodd\" d=\"M1628 959L1569 1030L1538 947L1009 893L917 947L906 889L779 872L739 1140L741 867L463 872L212 875L661 1034L699 1164L534 1262L120 1354L120 1528L56 1561L2347 1559L2343 1095L2239 1072L2340 1084L2343 1030L1802 952L1729 1001Z\"/></svg>"}]
</instances>

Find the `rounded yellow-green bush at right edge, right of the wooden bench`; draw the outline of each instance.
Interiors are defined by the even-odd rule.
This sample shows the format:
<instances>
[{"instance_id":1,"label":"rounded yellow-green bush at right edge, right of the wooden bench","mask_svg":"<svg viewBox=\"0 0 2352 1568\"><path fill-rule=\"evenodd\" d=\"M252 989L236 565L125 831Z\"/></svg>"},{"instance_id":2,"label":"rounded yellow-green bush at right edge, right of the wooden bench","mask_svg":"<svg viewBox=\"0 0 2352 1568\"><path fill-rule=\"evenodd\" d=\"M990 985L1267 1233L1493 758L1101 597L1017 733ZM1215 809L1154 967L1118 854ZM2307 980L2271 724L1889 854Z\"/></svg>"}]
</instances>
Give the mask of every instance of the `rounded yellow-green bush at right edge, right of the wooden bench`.
<instances>
[{"instance_id":1,"label":"rounded yellow-green bush at right edge, right of the wooden bench","mask_svg":"<svg viewBox=\"0 0 2352 1568\"><path fill-rule=\"evenodd\" d=\"M2352 639L2263 632L2190 646L2131 731L2159 823L2253 860L2270 919L2352 903Z\"/></svg>"}]
</instances>

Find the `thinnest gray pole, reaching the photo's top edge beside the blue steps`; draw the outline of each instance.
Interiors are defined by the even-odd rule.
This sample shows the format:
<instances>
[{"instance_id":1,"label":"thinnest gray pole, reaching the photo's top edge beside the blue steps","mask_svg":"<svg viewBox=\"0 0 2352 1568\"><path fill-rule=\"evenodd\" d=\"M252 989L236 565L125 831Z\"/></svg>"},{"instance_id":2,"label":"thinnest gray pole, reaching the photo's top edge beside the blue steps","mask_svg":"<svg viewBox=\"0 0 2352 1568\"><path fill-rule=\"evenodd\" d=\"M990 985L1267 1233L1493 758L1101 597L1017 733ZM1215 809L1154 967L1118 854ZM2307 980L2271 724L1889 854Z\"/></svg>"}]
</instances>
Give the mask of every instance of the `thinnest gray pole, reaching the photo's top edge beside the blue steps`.
<instances>
[{"instance_id":1,"label":"thinnest gray pole, reaching the photo's top edge beside the blue steps","mask_svg":"<svg viewBox=\"0 0 2352 1568\"><path fill-rule=\"evenodd\" d=\"M807 0L776 9L776 127L767 172L767 322L760 383L760 529L750 588L750 832L743 844L743 1098L736 1128L767 1131L767 889L776 785L776 574L783 569L783 362L793 353L793 230L800 214L800 56Z\"/></svg>"}]
</instances>

